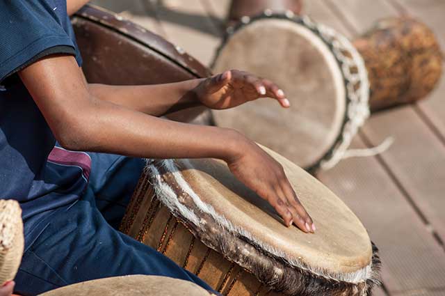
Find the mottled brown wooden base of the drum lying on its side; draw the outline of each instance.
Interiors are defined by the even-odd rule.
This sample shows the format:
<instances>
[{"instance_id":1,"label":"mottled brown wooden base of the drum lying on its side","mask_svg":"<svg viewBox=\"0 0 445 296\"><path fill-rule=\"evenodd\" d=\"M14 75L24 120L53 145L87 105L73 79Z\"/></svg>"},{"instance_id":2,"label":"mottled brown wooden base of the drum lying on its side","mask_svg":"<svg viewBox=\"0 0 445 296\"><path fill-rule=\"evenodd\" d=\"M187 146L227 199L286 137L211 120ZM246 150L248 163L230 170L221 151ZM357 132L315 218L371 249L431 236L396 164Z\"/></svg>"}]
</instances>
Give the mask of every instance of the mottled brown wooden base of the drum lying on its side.
<instances>
[{"instance_id":1,"label":"mottled brown wooden base of the drum lying on its side","mask_svg":"<svg viewBox=\"0 0 445 296\"><path fill-rule=\"evenodd\" d=\"M421 100L442 74L442 54L434 33L411 17L378 21L354 41L365 61L371 111Z\"/></svg>"}]
</instances>

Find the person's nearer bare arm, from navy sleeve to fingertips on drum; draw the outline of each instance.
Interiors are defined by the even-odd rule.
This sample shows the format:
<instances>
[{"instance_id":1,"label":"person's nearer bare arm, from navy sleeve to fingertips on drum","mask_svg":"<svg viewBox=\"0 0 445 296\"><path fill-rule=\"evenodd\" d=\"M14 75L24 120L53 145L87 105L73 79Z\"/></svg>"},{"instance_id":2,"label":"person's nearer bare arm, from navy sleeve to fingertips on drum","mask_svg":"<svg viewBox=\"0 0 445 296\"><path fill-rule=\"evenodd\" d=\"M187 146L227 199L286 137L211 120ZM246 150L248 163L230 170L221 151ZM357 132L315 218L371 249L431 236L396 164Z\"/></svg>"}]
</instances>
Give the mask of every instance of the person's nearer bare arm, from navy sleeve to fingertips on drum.
<instances>
[{"instance_id":1,"label":"person's nearer bare arm, from navy sleeve to fingertips on drum","mask_svg":"<svg viewBox=\"0 0 445 296\"><path fill-rule=\"evenodd\" d=\"M286 225L313 231L284 170L234 130L188 125L99 100L88 91L72 56L49 56L19 76L59 143L69 150L149 158L223 159L232 173L265 198Z\"/></svg>"}]
</instances>

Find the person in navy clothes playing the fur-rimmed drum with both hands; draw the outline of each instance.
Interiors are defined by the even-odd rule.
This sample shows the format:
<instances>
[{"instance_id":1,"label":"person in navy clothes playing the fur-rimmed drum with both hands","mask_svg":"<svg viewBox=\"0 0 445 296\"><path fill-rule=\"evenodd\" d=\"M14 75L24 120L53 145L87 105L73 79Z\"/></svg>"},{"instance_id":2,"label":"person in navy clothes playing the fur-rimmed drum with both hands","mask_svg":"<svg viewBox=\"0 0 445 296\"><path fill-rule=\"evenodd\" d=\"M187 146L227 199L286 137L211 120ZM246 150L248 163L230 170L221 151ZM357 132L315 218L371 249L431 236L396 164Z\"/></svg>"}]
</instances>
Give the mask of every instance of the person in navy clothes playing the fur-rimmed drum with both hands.
<instances>
[{"instance_id":1,"label":"person in navy clothes playing the fur-rimmed drum with both hands","mask_svg":"<svg viewBox=\"0 0 445 296\"><path fill-rule=\"evenodd\" d=\"M69 19L84 3L0 1L1 198L21 203L26 243L17 293L124 274L171 276L210 290L116 230L143 169L138 157L223 159L286 226L316 230L282 166L254 142L234 130L159 118L266 97L289 107L280 88L237 70L174 84L88 84Z\"/></svg>"}]
</instances>

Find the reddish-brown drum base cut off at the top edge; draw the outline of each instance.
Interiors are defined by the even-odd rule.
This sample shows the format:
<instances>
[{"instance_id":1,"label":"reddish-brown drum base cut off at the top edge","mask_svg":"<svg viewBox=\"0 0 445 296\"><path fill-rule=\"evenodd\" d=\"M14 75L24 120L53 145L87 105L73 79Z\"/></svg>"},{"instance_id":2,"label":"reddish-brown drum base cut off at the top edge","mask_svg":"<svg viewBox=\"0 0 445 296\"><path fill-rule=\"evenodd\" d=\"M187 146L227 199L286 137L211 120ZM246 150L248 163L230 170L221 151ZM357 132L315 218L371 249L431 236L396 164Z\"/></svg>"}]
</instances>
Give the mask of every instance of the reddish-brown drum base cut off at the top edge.
<instances>
[{"instance_id":1,"label":"reddish-brown drum base cut off at the top edge","mask_svg":"<svg viewBox=\"0 0 445 296\"><path fill-rule=\"evenodd\" d=\"M242 17L253 17L264 10L274 13L291 11L296 15L301 13L302 0L232 0L229 8L229 24L238 22Z\"/></svg>"}]
</instances>

